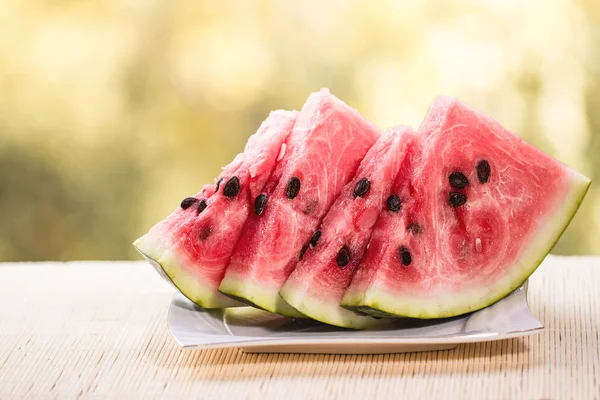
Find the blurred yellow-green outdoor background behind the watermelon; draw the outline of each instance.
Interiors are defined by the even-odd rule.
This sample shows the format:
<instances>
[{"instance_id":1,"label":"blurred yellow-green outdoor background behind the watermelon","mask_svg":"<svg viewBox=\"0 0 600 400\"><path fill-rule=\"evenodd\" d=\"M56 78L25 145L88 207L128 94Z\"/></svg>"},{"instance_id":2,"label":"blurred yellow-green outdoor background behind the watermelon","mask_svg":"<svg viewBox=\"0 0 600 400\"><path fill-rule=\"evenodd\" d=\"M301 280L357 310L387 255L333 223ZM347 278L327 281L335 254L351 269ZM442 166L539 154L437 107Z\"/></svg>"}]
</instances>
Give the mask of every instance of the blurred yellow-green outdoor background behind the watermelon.
<instances>
[{"instance_id":1,"label":"blurred yellow-green outdoor background behind the watermelon","mask_svg":"<svg viewBox=\"0 0 600 400\"><path fill-rule=\"evenodd\" d=\"M0 26L0 260L138 259L320 87L384 128L453 95L600 178L597 2L9 0ZM599 227L596 184L554 252Z\"/></svg>"}]
</instances>

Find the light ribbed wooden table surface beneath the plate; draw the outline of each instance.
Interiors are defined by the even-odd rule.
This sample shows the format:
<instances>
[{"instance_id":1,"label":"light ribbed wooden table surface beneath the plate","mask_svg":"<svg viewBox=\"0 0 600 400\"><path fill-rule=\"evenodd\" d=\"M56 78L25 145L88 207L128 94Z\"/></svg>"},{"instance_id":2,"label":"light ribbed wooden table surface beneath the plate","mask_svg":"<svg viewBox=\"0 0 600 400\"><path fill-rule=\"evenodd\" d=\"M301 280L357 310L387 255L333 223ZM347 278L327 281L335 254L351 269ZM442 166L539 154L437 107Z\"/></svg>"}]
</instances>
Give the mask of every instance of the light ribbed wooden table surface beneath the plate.
<instances>
[{"instance_id":1,"label":"light ribbed wooden table surface beneath the plate","mask_svg":"<svg viewBox=\"0 0 600 400\"><path fill-rule=\"evenodd\" d=\"M392 355L181 350L143 262L0 264L0 399L600 398L600 257L531 278L544 333Z\"/></svg>"}]
</instances>

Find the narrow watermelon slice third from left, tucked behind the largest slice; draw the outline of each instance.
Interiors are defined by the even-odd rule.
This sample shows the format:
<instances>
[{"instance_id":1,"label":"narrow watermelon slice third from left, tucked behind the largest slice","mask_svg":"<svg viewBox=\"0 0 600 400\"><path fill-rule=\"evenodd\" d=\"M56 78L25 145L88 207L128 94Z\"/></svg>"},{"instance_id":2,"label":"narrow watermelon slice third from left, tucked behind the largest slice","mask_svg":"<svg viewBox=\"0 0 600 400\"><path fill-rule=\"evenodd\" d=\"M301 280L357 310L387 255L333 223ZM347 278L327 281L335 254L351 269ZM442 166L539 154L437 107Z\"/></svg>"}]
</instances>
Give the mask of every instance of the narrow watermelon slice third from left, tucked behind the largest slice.
<instances>
[{"instance_id":1,"label":"narrow watermelon slice third from left, tucked behind the largest slice","mask_svg":"<svg viewBox=\"0 0 600 400\"><path fill-rule=\"evenodd\" d=\"M409 127L396 127L381 136L323 219L310 248L279 292L304 315L344 328L381 324L381 319L341 308L340 301L386 205L405 150L414 139Z\"/></svg>"}]
</instances>

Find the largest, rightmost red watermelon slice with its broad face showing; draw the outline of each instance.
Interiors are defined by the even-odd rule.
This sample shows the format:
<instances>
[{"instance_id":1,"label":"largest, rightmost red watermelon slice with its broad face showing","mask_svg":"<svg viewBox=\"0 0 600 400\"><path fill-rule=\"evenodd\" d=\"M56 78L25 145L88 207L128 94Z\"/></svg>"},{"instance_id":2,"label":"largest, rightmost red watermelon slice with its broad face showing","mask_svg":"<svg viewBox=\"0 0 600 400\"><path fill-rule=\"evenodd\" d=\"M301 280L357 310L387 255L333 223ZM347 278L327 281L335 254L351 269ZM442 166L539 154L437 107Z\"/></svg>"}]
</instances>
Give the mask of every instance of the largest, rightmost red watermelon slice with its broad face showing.
<instances>
[{"instance_id":1,"label":"largest, rightmost red watermelon slice with its broad face showing","mask_svg":"<svg viewBox=\"0 0 600 400\"><path fill-rule=\"evenodd\" d=\"M344 307L415 318L486 307L533 273L590 184L453 98L437 98L419 132L423 161L399 174L402 208L382 213Z\"/></svg>"}]
</instances>

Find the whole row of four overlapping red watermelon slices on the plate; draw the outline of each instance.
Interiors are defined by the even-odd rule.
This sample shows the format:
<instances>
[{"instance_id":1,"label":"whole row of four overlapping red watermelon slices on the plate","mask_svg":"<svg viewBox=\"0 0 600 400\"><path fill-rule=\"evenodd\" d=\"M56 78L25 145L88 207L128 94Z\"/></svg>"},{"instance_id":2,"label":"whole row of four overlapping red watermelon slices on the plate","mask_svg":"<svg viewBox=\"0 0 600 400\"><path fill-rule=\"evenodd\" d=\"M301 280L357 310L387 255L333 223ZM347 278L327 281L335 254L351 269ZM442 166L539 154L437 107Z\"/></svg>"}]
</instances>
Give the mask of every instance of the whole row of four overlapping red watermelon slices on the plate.
<instances>
[{"instance_id":1,"label":"whole row of four overlapping red watermelon slices on the plate","mask_svg":"<svg viewBox=\"0 0 600 400\"><path fill-rule=\"evenodd\" d=\"M276 111L134 246L204 308L345 328L444 318L519 287L590 180L449 97L382 133L323 89Z\"/></svg>"}]
</instances>

